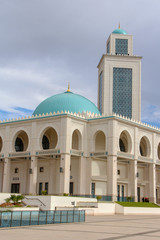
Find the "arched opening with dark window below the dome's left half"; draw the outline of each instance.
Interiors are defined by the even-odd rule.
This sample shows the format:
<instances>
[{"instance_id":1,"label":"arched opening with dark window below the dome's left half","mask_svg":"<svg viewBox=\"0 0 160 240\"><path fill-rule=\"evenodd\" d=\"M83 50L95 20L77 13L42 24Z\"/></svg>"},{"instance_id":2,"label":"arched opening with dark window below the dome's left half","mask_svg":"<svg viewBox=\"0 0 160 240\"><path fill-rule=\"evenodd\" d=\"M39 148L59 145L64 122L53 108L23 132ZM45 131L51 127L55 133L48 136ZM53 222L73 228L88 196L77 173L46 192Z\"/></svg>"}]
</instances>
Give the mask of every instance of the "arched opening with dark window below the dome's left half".
<instances>
[{"instance_id":1,"label":"arched opening with dark window below the dome's left half","mask_svg":"<svg viewBox=\"0 0 160 240\"><path fill-rule=\"evenodd\" d=\"M48 128L42 136L42 148L54 149L57 146L58 136L54 128Z\"/></svg>"}]
</instances>

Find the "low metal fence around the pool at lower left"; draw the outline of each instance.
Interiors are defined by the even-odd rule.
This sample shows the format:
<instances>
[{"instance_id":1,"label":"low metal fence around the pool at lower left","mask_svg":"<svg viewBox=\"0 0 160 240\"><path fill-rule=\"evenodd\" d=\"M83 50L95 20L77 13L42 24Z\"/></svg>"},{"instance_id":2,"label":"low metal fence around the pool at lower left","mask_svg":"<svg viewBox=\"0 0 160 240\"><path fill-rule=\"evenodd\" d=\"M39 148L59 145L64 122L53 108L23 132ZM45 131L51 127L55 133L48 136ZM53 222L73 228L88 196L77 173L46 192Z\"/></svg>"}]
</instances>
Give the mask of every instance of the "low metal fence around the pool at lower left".
<instances>
[{"instance_id":1,"label":"low metal fence around the pool at lower left","mask_svg":"<svg viewBox=\"0 0 160 240\"><path fill-rule=\"evenodd\" d=\"M84 221L84 210L0 212L0 228Z\"/></svg>"}]
</instances>

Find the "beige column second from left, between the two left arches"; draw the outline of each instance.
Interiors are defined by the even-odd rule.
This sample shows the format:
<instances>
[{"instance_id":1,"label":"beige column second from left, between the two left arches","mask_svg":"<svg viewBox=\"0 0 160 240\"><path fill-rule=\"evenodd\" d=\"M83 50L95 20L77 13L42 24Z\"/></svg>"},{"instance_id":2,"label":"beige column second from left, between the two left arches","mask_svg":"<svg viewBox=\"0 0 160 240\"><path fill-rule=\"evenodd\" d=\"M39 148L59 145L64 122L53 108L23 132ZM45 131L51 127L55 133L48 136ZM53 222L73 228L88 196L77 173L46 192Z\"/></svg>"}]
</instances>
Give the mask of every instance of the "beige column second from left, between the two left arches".
<instances>
[{"instance_id":1,"label":"beige column second from left, between the two left arches","mask_svg":"<svg viewBox=\"0 0 160 240\"><path fill-rule=\"evenodd\" d=\"M37 194L37 157L31 157L29 168L29 193Z\"/></svg>"}]
</instances>

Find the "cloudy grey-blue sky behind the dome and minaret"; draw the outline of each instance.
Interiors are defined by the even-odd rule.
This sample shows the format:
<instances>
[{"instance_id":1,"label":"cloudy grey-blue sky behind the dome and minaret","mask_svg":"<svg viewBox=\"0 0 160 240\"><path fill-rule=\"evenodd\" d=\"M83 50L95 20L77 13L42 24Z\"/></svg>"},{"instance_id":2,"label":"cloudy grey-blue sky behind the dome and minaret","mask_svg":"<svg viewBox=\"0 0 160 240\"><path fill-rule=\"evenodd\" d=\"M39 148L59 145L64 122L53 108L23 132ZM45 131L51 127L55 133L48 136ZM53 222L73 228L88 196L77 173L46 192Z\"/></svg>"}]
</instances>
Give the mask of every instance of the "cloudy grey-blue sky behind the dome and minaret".
<instances>
[{"instance_id":1,"label":"cloudy grey-blue sky behind the dome and minaret","mask_svg":"<svg viewBox=\"0 0 160 240\"><path fill-rule=\"evenodd\" d=\"M71 91L97 105L97 65L118 27L142 56L142 121L160 127L159 0L0 0L0 119Z\"/></svg>"}]
</instances>

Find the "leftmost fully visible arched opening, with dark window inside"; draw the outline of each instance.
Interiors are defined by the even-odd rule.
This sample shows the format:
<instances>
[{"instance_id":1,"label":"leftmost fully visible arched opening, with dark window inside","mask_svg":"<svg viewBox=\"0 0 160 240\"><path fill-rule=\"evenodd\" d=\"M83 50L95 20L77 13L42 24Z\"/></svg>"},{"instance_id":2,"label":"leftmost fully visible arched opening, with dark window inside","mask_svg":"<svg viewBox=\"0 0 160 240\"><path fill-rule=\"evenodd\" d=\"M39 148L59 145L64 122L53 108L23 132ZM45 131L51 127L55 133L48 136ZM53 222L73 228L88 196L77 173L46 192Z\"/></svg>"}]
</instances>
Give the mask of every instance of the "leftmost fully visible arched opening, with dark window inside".
<instances>
[{"instance_id":1,"label":"leftmost fully visible arched opening, with dark window inside","mask_svg":"<svg viewBox=\"0 0 160 240\"><path fill-rule=\"evenodd\" d=\"M28 148L28 135L25 131L21 131L15 140L15 151L23 152Z\"/></svg>"}]
</instances>

